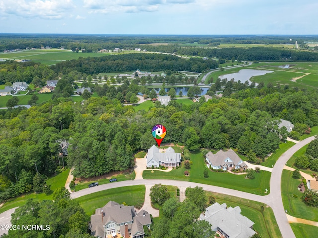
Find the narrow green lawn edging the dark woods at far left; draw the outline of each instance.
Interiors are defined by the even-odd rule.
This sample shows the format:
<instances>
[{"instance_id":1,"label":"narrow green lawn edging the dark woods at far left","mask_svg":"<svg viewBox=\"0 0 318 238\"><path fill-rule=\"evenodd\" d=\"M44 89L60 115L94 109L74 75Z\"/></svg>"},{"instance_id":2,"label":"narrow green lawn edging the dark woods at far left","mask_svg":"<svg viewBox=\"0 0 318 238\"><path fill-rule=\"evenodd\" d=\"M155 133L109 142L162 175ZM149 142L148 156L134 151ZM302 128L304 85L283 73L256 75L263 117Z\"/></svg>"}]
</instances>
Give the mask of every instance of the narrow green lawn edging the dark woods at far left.
<instances>
[{"instance_id":1,"label":"narrow green lawn edging the dark woods at far left","mask_svg":"<svg viewBox=\"0 0 318 238\"><path fill-rule=\"evenodd\" d=\"M53 176L49 178L46 182L48 185L51 185L51 190L55 191L55 189L59 187L64 187L66 179L69 175L70 169L66 169L65 171L57 174L56 176ZM16 198L12 198L8 200L1 208L0 213L5 212L13 207L22 206L26 203L26 200L28 199L35 199L35 200L52 200L52 194L51 195L45 195L44 193L36 194L36 193L27 193L24 195L21 195Z\"/></svg>"}]
</instances>

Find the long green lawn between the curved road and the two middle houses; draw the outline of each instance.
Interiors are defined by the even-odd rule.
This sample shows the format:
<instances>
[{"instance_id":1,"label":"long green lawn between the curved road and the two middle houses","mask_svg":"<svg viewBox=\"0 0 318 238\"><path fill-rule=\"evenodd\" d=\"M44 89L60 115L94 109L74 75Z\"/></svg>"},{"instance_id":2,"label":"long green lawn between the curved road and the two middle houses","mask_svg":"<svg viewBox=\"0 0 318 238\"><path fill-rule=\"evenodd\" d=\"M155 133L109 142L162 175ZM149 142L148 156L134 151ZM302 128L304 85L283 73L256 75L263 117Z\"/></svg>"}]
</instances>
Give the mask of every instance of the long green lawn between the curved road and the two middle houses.
<instances>
[{"instance_id":1,"label":"long green lawn between the curved road and the two middle houses","mask_svg":"<svg viewBox=\"0 0 318 238\"><path fill-rule=\"evenodd\" d=\"M266 195L265 188L269 189L270 172L261 171L255 174L255 179L245 179L245 175L234 175L224 172L212 172L209 170L209 177L203 177L204 158L201 152L195 152L191 154L191 169L189 169L190 176L186 177L184 167L174 169L170 172L162 172L155 170L151 173L150 170L143 172L144 179L173 179L181 181L198 182L208 185L226 187L243 192L254 193L257 195Z\"/></svg>"}]
</instances>

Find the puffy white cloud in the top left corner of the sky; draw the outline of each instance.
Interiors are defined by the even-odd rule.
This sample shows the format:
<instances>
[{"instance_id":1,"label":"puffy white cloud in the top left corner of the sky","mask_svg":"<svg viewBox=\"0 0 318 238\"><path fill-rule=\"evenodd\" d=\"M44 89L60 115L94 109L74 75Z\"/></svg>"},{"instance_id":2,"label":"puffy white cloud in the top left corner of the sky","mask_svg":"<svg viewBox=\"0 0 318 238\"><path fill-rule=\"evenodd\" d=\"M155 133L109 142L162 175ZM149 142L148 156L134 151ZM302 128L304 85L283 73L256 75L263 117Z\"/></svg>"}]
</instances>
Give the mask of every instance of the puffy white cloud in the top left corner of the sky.
<instances>
[{"instance_id":1,"label":"puffy white cloud in the top left corner of the sky","mask_svg":"<svg viewBox=\"0 0 318 238\"><path fill-rule=\"evenodd\" d=\"M0 15L60 19L74 7L72 0L0 0Z\"/></svg>"}]
</instances>

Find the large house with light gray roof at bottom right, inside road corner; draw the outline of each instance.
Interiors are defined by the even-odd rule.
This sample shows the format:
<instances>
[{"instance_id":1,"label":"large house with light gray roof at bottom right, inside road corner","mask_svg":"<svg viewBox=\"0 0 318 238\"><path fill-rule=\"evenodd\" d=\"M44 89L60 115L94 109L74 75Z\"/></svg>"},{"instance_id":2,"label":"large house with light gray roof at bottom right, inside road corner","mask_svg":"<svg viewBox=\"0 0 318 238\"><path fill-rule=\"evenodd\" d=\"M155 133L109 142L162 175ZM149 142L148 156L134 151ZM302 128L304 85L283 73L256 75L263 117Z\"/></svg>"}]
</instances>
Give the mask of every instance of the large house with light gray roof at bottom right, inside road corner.
<instances>
[{"instance_id":1,"label":"large house with light gray roof at bottom right, inside road corner","mask_svg":"<svg viewBox=\"0 0 318 238\"><path fill-rule=\"evenodd\" d=\"M241 215L241 209L227 207L227 204L214 203L200 215L200 220L208 221L211 229L225 238L249 238L256 232L252 229L254 222Z\"/></svg>"}]
</instances>

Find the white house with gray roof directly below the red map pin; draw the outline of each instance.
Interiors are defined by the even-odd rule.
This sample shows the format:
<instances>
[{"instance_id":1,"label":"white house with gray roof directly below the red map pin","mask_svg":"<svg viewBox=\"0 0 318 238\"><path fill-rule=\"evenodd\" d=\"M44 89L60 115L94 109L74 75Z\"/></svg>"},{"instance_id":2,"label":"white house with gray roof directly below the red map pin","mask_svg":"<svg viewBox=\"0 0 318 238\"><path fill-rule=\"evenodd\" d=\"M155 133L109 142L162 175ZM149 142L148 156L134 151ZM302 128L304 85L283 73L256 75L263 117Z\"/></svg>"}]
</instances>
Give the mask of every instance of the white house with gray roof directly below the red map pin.
<instances>
[{"instance_id":1,"label":"white house with gray roof directly below the red map pin","mask_svg":"<svg viewBox=\"0 0 318 238\"><path fill-rule=\"evenodd\" d=\"M181 154L175 153L174 149L170 146L165 153L159 152L157 146L153 145L148 149L147 152L147 167L154 166L159 167L159 165L165 167L176 167L180 166Z\"/></svg>"}]
</instances>

